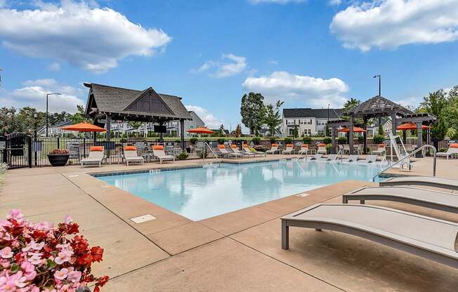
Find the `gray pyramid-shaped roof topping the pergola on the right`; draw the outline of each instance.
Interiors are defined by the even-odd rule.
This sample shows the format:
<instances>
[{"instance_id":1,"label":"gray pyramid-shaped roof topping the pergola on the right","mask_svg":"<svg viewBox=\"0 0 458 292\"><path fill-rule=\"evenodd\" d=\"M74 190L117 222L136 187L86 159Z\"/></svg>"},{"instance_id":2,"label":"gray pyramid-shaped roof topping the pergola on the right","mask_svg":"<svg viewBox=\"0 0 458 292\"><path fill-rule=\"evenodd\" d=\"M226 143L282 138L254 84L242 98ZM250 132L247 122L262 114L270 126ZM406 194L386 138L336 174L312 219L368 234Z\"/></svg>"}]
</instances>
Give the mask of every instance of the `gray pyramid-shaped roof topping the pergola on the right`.
<instances>
[{"instance_id":1,"label":"gray pyramid-shaped roof topping the pergola on the right","mask_svg":"<svg viewBox=\"0 0 458 292\"><path fill-rule=\"evenodd\" d=\"M396 112L398 114L412 114L410 110L407 110L405 107L398 105L383 96L377 95L373 98L369 98L365 102L360 103L360 105L354 107L348 112L343 114L353 114L353 115L364 115L364 114L389 114L391 112Z\"/></svg>"}]
</instances>

